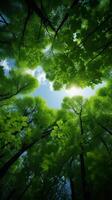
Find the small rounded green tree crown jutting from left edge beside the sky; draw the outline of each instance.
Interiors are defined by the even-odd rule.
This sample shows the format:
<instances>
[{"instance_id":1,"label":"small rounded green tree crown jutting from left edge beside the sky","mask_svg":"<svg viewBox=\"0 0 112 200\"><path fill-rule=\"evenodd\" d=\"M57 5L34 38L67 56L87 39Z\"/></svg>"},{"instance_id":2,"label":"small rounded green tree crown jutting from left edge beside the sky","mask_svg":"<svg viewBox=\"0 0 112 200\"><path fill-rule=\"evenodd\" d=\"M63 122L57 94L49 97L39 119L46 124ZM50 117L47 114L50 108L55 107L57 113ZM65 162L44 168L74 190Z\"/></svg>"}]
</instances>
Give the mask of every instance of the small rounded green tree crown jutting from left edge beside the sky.
<instances>
[{"instance_id":1,"label":"small rounded green tree crown jutting from left edge beside the sky","mask_svg":"<svg viewBox=\"0 0 112 200\"><path fill-rule=\"evenodd\" d=\"M11 70L8 77L5 76L2 68L0 68L0 72L0 102L9 100L18 94L31 92L38 86L35 78L22 74L18 70Z\"/></svg>"}]
</instances>

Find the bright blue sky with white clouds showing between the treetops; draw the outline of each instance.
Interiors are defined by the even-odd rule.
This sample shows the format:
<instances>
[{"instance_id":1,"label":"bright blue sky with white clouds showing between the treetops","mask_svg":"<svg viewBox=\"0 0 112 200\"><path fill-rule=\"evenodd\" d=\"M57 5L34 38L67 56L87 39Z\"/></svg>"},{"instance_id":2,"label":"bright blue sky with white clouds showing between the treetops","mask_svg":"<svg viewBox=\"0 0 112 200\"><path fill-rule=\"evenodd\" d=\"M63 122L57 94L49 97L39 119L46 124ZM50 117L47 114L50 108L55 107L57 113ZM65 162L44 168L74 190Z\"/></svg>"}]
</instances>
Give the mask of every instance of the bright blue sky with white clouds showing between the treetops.
<instances>
[{"instance_id":1,"label":"bright blue sky with white clouds showing between the treetops","mask_svg":"<svg viewBox=\"0 0 112 200\"><path fill-rule=\"evenodd\" d=\"M1 61L0 65L4 66L5 75L7 76L9 71L14 66L14 60L10 59L10 60ZM63 98L65 96L72 97L75 95L82 95L85 98L89 98L90 96L95 94L97 89L99 89L100 87L104 85L104 83L98 84L95 86L94 89L90 87L81 89L81 88L76 88L74 86L69 90L63 88L61 90L54 91L52 82L46 79L46 74L41 66L38 66L34 70L27 69L26 73L34 76L39 82L39 87L35 89L35 91L31 95L43 97L49 107L56 108L56 109L61 107L61 102L63 101Z\"/></svg>"}]
</instances>

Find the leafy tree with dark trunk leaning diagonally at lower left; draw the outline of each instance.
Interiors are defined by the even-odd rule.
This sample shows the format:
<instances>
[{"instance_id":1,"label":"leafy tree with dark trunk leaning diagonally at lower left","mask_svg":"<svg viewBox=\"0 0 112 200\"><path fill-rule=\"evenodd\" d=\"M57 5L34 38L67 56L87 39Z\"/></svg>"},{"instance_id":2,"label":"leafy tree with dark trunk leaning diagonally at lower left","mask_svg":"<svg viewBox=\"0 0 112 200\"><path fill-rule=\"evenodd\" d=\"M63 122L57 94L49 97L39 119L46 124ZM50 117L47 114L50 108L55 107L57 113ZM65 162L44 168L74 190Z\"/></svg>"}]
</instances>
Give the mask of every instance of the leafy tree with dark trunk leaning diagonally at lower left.
<instances>
[{"instance_id":1,"label":"leafy tree with dark trunk leaning diagonally at lower left","mask_svg":"<svg viewBox=\"0 0 112 200\"><path fill-rule=\"evenodd\" d=\"M54 123L55 112L48 109L41 98L17 99L12 105L6 106L5 110L1 108L1 111L0 149L4 156L1 159L0 177L6 175L7 178L10 177L11 171L16 173L13 166L18 172L18 164L20 163L21 168L22 159L26 158L25 155L34 145L37 145L38 149L41 139L49 138L56 123ZM6 120L7 126L4 124ZM1 180L1 183L4 180Z\"/></svg>"}]
</instances>

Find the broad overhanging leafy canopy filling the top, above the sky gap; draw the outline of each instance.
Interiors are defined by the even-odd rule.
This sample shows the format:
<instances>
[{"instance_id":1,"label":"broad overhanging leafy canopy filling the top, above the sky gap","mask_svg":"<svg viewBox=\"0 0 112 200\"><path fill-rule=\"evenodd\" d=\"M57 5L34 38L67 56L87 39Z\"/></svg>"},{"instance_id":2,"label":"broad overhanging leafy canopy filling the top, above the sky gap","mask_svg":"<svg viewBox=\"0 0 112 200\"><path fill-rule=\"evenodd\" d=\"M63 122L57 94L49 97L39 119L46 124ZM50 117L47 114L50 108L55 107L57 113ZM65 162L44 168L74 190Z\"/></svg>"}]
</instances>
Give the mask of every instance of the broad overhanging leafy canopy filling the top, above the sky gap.
<instances>
[{"instance_id":1,"label":"broad overhanging leafy canopy filling the top, above the sky gap","mask_svg":"<svg viewBox=\"0 0 112 200\"><path fill-rule=\"evenodd\" d=\"M42 65L56 89L94 86L110 77L111 2L48 5L48 0L1 1L1 59L14 58L22 67Z\"/></svg>"}]
</instances>

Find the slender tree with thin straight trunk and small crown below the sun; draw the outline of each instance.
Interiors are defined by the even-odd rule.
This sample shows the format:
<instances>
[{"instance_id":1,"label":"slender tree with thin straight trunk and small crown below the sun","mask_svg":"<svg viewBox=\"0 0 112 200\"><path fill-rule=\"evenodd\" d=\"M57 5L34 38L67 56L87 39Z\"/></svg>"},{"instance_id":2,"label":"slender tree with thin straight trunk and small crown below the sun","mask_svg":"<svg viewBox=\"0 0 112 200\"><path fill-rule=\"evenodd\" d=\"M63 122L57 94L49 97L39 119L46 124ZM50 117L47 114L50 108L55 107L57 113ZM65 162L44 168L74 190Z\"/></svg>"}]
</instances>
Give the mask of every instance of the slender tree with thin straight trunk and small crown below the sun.
<instances>
[{"instance_id":1,"label":"slender tree with thin straight trunk and small crown below the sun","mask_svg":"<svg viewBox=\"0 0 112 200\"><path fill-rule=\"evenodd\" d=\"M87 186L87 177L86 177L86 167L85 167L85 159L84 159L84 127L82 120L82 112L83 112L83 100L81 97L73 97L72 99L65 98L63 101L63 107L70 112L73 112L74 115L78 116L79 120L79 132L80 132L80 170L81 170L81 182L82 182L82 194L83 199L89 199L89 191Z\"/></svg>"}]
</instances>

